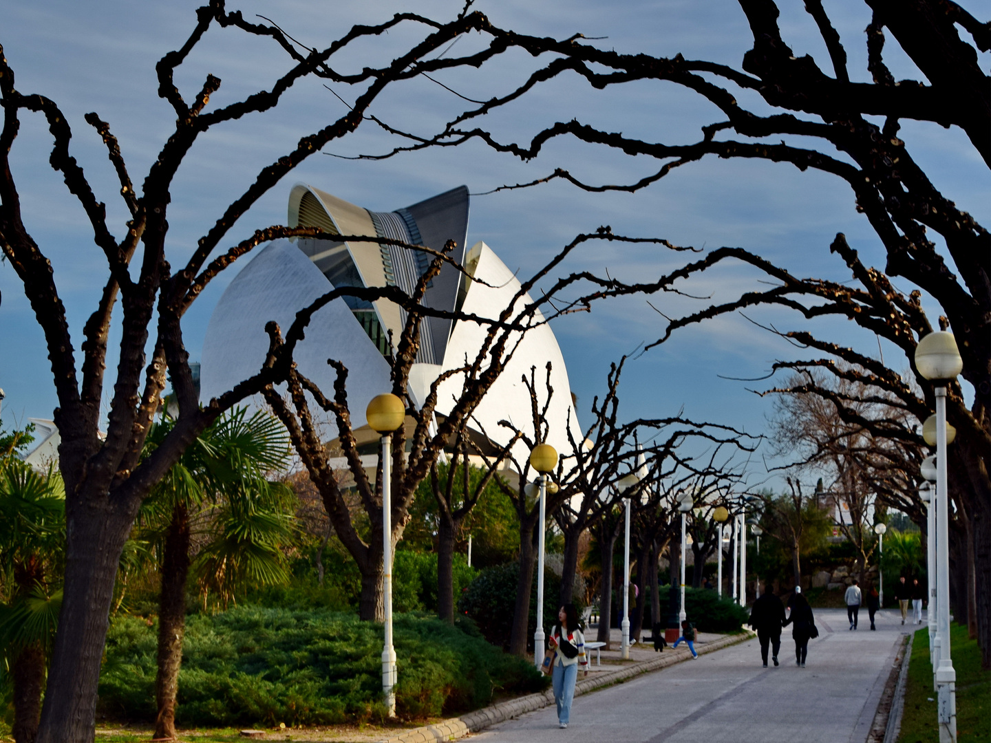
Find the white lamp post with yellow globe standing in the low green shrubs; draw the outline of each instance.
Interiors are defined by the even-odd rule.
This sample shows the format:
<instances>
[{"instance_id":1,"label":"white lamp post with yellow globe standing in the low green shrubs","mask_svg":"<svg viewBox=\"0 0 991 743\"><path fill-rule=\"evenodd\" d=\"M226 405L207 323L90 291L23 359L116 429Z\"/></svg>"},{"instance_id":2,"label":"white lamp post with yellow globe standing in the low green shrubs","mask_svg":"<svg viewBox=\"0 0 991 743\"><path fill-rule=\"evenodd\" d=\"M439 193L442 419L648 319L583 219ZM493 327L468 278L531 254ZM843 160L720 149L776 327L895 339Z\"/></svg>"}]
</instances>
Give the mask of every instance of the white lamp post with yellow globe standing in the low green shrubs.
<instances>
[{"instance_id":1,"label":"white lamp post with yellow globe standing in the low green shrubs","mask_svg":"<svg viewBox=\"0 0 991 743\"><path fill-rule=\"evenodd\" d=\"M392 647L392 431L402 425L406 406L394 394L372 398L365 410L369 428L382 434L382 570L385 643L382 649L382 692L388 716L395 716L395 649Z\"/></svg>"}]
</instances>

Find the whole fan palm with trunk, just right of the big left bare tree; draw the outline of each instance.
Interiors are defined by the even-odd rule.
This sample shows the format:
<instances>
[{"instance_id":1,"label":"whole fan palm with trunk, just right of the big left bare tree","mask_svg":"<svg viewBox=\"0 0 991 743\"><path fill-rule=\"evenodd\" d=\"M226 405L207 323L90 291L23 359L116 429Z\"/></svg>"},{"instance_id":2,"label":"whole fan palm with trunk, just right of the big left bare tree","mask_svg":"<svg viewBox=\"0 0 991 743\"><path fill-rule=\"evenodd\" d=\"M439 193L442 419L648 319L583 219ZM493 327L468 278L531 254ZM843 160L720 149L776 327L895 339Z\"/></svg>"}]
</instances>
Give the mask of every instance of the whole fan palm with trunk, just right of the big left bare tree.
<instances>
[{"instance_id":1,"label":"whole fan palm with trunk, just right of the big left bare tree","mask_svg":"<svg viewBox=\"0 0 991 743\"><path fill-rule=\"evenodd\" d=\"M172 426L167 416L155 426L146 454L165 440ZM175 737L193 525L202 524L207 531L197 566L201 582L219 580L224 590L232 591L239 579L256 584L285 580L278 546L291 534L292 517L284 488L267 477L283 469L287 461L288 439L281 424L263 412L249 416L240 408L218 418L199 435L143 506L142 536L156 544L161 560L155 688L158 739ZM220 556L219 562L211 563L215 556ZM217 579L218 575L223 578Z\"/></svg>"}]
</instances>

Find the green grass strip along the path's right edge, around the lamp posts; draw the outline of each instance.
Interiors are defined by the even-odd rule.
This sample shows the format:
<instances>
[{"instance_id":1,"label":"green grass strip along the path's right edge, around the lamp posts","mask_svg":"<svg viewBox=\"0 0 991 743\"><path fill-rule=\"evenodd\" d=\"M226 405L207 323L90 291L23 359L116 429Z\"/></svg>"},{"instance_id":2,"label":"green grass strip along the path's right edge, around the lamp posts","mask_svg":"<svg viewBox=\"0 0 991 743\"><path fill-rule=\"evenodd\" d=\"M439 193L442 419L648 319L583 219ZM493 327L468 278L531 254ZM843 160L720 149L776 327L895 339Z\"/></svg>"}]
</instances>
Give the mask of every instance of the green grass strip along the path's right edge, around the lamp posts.
<instances>
[{"instance_id":1,"label":"green grass strip along the path's right edge, around the lamp posts","mask_svg":"<svg viewBox=\"0 0 991 743\"><path fill-rule=\"evenodd\" d=\"M967 628L951 624L950 652L956 670L956 733L958 743L991 740L991 671L981 671L977 641ZM912 642L905 712L898 743L937 743L936 691L929 657L929 630L920 629Z\"/></svg>"}]
</instances>

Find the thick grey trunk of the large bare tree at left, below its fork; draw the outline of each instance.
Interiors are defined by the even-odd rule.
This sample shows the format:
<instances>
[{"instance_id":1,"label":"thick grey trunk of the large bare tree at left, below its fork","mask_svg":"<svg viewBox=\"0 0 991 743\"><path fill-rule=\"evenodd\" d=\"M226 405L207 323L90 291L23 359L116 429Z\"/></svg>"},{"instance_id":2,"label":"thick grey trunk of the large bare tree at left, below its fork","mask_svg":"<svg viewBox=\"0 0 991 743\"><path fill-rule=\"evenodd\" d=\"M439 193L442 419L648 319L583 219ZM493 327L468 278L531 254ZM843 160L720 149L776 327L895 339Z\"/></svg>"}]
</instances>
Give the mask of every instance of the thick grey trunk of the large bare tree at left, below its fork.
<instances>
[{"instance_id":1,"label":"thick grey trunk of the large bare tree at left, below its fork","mask_svg":"<svg viewBox=\"0 0 991 743\"><path fill-rule=\"evenodd\" d=\"M39 743L92 743L96 687L121 551L140 501L76 494L66 503L65 584Z\"/></svg>"}]
</instances>

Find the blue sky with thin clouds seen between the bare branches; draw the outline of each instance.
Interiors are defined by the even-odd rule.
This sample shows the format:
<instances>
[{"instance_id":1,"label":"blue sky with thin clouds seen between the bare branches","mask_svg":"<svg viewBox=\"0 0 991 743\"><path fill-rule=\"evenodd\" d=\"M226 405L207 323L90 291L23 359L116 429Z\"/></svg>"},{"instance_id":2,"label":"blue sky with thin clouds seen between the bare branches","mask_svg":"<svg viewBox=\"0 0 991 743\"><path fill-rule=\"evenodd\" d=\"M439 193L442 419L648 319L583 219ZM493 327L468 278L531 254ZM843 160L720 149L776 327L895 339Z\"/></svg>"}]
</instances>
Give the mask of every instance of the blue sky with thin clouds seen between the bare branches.
<instances>
[{"instance_id":1,"label":"blue sky with thin clouds seen between the bare branches","mask_svg":"<svg viewBox=\"0 0 991 743\"><path fill-rule=\"evenodd\" d=\"M99 3L14 0L5 5L0 43L17 75L22 92L43 93L62 108L73 130L72 154L86 168L98 197L107 202L112 229L119 234L125 210L118 186L95 133L83 122L96 111L120 140L132 177L140 181L154 161L172 125L172 111L156 94L155 63L177 48L194 24L198 3L103 0ZM800 0L783 0L784 37L798 54L811 53L830 69L825 47ZM974 3L974 12L981 7ZM263 13L295 38L325 46L353 23L380 22L408 6L385 0L341 3L231 2L252 18ZM452 18L460 2L430 0L415 10L438 20ZM478 9L496 25L520 32L555 37L583 33L606 37L598 44L623 52L708 58L739 67L749 49L749 31L735 2L624 2L587 0L533 3L516 0L482 2ZM851 77L869 80L863 29L869 22L866 6L856 2L826 2L826 10L843 38ZM387 38L365 43L346 60L345 69L381 63L415 36L414 29L397 29ZM477 38L459 42L465 53ZM889 43L886 58L896 78L918 77L918 70ZM989 57L982 55L987 67ZM508 53L482 70L453 70L441 79L466 95L488 97L505 92L525 78L534 61ZM206 43L190 56L176 80L190 97L207 73L223 79L213 104L222 105L248 92L271 85L287 66L284 55L264 40L234 32L211 31ZM344 88L335 91L346 99ZM741 100L764 110L759 101ZM432 132L462 102L424 79L389 92L373 113L385 121ZM183 166L172 190L169 211L168 258L173 266L189 255L227 203L238 195L266 163L289 150L295 141L321 123L336 119L343 104L318 82L302 84L274 112L234 123L202 139ZM527 142L532 133L555 121L577 118L607 131L652 141L695 141L699 129L719 120L716 111L696 96L669 84L635 83L607 91L591 91L565 76L538 88L515 106L489 117L503 141ZM69 312L78 349L81 326L91 311L105 275L102 255L93 245L81 209L60 178L48 166L51 143L38 116L22 116L21 136L12 153L20 184L25 221L55 266L61 297ZM991 177L982 160L958 130L905 122L902 137L943 193L988 224ZM328 151L338 155L380 153L392 144L381 130L366 124L356 136ZM404 155L385 161L353 161L318 155L290 174L259 202L232 231L226 245L259 227L285 219L288 190L308 182L374 210L389 210L419 201L465 183L473 193L503 183L526 181L565 166L598 182L630 182L657 169L646 159L576 144L562 139L540 158L523 163L500 156L481 145ZM785 265L799 275L846 280L845 267L829 255L836 232L844 232L868 263L884 265L879 242L866 220L853 208L853 196L837 179L823 173L799 172L768 162L709 159L680 171L636 194L588 194L555 182L525 191L475 196L472 200L469 245L485 240L520 275L542 265L554 252L585 231L610 225L614 232L664 237L675 244L705 247L739 246ZM569 269L606 269L615 276L642 279L670 269L684 258L663 249L591 244ZM199 349L210 311L237 267L208 289L184 322L186 345L193 359ZM700 295L724 299L753 286L755 275L739 266L725 266L690 288ZM903 282L904 283L904 282ZM896 280L904 290L911 287ZM47 354L31 308L13 269L0 265L0 386L6 392L4 421L51 417L55 391ZM665 312L678 314L700 308L702 302L665 296ZM938 309L927 309L936 317ZM756 310L753 319L782 330L801 327L795 315ZM576 315L554 324L568 363L579 415L601 393L611 361L650 342L663 332L664 322L643 300L630 298L597 306L591 315ZM824 337L853 345L866 353L885 355L889 366L907 369L899 352L857 332L845 322L815 328ZM739 316L723 317L679 332L664 346L629 365L622 385L625 415L670 415L679 409L699 420L710 420L760 433L771 412L767 399L747 391L744 383L723 376L755 377L778 359L795 358L796 351ZM108 385L109 387L109 385ZM759 457L758 457L759 459ZM755 463L754 478L762 466Z\"/></svg>"}]
</instances>

